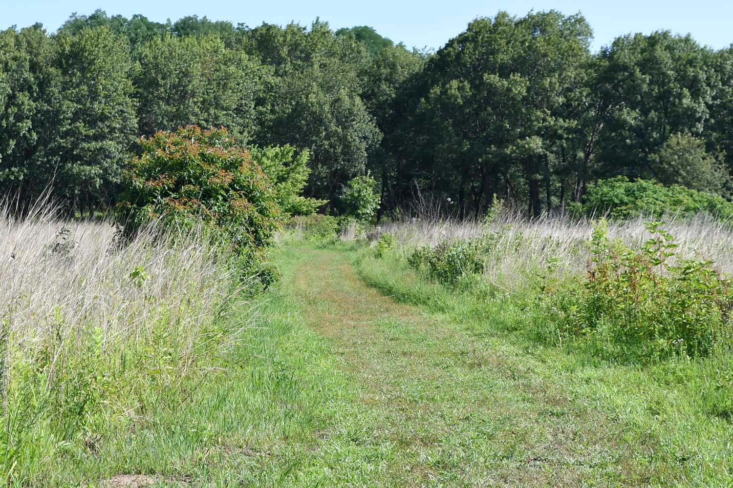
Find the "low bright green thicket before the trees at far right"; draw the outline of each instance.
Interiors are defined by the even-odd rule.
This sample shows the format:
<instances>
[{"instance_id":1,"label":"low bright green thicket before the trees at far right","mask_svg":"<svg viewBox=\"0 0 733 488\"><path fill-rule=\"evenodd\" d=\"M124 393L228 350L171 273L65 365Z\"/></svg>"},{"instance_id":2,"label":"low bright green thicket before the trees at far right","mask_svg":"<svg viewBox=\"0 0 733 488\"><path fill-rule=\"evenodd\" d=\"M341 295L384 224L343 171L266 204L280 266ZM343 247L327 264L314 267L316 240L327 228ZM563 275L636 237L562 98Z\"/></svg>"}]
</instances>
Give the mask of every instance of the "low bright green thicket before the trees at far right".
<instances>
[{"instance_id":1,"label":"low bright green thicket before the trees at far right","mask_svg":"<svg viewBox=\"0 0 733 488\"><path fill-rule=\"evenodd\" d=\"M733 217L733 203L715 193L643 179L629 181L625 176L590 184L583 205L575 210L587 215L607 213L612 219L659 218L666 213L690 217L699 212Z\"/></svg>"}]
</instances>

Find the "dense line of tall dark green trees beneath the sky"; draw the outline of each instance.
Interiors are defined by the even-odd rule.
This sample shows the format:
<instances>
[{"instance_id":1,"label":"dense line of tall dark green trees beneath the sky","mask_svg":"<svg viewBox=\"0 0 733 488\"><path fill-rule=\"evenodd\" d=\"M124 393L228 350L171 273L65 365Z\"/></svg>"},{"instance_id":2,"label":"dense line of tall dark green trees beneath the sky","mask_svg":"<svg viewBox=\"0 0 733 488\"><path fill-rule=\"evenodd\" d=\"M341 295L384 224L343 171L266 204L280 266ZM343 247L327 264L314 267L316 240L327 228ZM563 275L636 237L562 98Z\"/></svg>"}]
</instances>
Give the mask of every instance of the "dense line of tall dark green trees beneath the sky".
<instances>
[{"instance_id":1,"label":"dense line of tall dark green trees beneath the sky","mask_svg":"<svg viewBox=\"0 0 733 488\"><path fill-rule=\"evenodd\" d=\"M0 32L0 192L51 184L70 212L114 205L140 137L196 124L309 157L309 198L375 177L380 214L416 186L482 214L495 195L564 209L627 176L732 195L733 48L657 31L592 52L581 15L499 12L436 52L366 26L72 15ZM448 200L450 199L450 200Z\"/></svg>"}]
</instances>

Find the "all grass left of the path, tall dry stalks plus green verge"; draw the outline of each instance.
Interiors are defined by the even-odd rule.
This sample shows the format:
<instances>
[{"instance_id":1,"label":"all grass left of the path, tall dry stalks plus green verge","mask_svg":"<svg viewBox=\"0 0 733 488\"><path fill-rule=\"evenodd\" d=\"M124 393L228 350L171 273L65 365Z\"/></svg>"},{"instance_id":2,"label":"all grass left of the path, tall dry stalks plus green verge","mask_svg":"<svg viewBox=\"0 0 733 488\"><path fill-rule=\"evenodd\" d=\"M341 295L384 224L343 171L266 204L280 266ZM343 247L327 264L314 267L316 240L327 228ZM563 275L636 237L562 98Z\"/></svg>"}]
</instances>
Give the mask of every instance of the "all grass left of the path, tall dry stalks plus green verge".
<instances>
[{"instance_id":1,"label":"all grass left of the path, tall dry stalks plus green verge","mask_svg":"<svg viewBox=\"0 0 733 488\"><path fill-rule=\"evenodd\" d=\"M0 486L281 486L312 449L333 359L206 233L119 247L40 212L0 236Z\"/></svg>"}]
</instances>

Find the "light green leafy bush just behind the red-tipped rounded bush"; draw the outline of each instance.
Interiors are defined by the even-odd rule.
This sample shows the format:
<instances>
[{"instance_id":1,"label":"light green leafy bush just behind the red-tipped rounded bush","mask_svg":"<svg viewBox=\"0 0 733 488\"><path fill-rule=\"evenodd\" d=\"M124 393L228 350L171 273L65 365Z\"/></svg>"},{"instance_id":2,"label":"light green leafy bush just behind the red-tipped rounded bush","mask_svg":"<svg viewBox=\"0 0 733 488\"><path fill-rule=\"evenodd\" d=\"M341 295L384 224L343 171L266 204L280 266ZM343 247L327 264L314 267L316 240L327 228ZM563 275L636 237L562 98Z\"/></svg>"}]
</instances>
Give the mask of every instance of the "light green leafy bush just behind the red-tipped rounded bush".
<instances>
[{"instance_id":1,"label":"light green leafy bush just behind the red-tipped rounded bush","mask_svg":"<svg viewBox=\"0 0 733 488\"><path fill-rule=\"evenodd\" d=\"M290 145L251 149L252 160L275 185L276 201L283 214L309 215L327 201L301 195L311 173L309 154L307 149L303 149L295 155L295 147Z\"/></svg>"}]
</instances>

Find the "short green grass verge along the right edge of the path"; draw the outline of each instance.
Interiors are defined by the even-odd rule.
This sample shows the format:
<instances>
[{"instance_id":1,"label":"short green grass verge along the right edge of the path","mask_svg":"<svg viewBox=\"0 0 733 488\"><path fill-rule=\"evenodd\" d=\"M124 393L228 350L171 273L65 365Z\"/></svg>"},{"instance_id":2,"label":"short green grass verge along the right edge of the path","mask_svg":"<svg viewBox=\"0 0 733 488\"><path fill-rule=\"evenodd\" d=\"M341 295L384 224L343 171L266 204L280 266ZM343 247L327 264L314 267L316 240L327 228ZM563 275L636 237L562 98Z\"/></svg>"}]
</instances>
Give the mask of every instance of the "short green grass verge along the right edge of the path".
<instances>
[{"instance_id":1,"label":"short green grass verge along the right edge of the path","mask_svg":"<svg viewBox=\"0 0 733 488\"><path fill-rule=\"evenodd\" d=\"M626 443L619 449L630 449L618 453L619 464L645 467L643 476L624 484L730 486L733 361L725 345L697 361L603 361L582 344L548 347L548 328L537 324L547 317L533 316L525 300L477 299L476 293L435 285L394 253L376 259L364 251L356 263L361 277L383 293L460 320L466 334L490 337L494 348L511 351L502 364L517 361L576 407L613 419Z\"/></svg>"}]
</instances>

